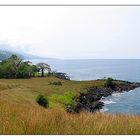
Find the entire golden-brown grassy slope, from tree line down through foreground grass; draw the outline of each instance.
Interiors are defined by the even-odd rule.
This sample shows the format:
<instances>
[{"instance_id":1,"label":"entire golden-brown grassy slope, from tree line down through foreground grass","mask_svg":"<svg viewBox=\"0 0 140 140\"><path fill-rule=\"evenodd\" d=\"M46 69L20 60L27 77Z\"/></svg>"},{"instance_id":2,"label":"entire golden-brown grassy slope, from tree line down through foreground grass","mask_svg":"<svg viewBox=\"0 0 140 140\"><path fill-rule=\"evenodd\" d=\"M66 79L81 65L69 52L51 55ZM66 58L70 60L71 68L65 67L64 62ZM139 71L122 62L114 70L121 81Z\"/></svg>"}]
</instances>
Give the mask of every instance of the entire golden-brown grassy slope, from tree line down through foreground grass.
<instances>
[{"instance_id":1,"label":"entire golden-brown grassy slope, from tree line down through foreground grass","mask_svg":"<svg viewBox=\"0 0 140 140\"><path fill-rule=\"evenodd\" d=\"M72 115L51 103L44 109L36 104L38 94L51 96L65 92L78 93L101 81L62 81L63 86L48 85L56 78L0 80L0 134L140 134L140 117L91 114ZM49 98L48 97L48 98ZM51 101L52 102L52 101Z\"/></svg>"}]
</instances>

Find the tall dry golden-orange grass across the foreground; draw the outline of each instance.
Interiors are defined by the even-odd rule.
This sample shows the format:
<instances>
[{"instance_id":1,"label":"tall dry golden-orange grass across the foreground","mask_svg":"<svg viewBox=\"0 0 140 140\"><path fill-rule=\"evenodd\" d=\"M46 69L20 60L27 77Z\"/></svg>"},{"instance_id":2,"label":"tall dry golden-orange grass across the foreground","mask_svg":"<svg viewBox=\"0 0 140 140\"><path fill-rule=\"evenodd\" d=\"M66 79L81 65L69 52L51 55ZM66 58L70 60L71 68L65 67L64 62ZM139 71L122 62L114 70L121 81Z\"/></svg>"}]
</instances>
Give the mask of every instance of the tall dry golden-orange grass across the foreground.
<instances>
[{"instance_id":1,"label":"tall dry golden-orange grass across the foreground","mask_svg":"<svg viewBox=\"0 0 140 140\"><path fill-rule=\"evenodd\" d=\"M0 103L0 134L140 134L140 117Z\"/></svg>"}]
</instances>

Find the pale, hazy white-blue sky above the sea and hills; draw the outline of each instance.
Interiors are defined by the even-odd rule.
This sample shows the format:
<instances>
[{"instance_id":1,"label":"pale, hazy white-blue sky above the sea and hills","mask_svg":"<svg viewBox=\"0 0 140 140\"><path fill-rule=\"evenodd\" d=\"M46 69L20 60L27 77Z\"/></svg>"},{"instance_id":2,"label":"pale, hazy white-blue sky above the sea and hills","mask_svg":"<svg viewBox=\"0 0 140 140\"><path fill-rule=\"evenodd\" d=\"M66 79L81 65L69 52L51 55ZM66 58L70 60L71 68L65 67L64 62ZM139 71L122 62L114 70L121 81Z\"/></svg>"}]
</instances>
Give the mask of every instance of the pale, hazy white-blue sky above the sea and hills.
<instances>
[{"instance_id":1,"label":"pale, hazy white-blue sky above the sea and hills","mask_svg":"<svg viewBox=\"0 0 140 140\"><path fill-rule=\"evenodd\" d=\"M0 7L0 49L61 59L139 59L140 7Z\"/></svg>"}]
</instances>

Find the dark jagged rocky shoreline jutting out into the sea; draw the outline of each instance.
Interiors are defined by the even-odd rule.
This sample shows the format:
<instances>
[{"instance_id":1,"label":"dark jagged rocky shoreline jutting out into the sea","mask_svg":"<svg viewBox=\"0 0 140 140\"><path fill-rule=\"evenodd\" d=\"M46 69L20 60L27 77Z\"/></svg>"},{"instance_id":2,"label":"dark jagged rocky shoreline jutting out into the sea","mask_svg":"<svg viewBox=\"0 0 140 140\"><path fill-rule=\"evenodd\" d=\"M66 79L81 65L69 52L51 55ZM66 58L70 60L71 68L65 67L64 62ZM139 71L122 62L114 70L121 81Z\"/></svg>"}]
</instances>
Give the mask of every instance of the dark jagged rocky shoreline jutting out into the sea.
<instances>
[{"instance_id":1,"label":"dark jagged rocky shoreline jutting out into the sea","mask_svg":"<svg viewBox=\"0 0 140 140\"><path fill-rule=\"evenodd\" d=\"M122 93L134 90L140 87L140 83L113 80L112 87L88 87L85 88L80 95L74 99L75 104L67 106L67 111L71 113L79 113L81 111L95 112L103 108L104 103L101 101L102 97L108 97L113 93Z\"/></svg>"}]
</instances>

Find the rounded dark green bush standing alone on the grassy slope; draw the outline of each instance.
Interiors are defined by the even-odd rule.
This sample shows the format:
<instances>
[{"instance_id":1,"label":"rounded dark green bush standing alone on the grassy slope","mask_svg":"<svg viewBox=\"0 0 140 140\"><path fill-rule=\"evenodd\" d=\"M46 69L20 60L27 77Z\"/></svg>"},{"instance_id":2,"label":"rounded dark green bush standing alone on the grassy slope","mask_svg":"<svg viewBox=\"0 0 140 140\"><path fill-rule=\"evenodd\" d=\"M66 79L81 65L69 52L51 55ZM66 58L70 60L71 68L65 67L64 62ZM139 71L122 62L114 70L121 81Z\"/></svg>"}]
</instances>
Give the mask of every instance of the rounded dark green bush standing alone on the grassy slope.
<instances>
[{"instance_id":1,"label":"rounded dark green bush standing alone on the grassy slope","mask_svg":"<svg viewBox=\"0 0 140 140\"><path fill-rule=\"evenodd\" d=\"M48 107L49 105L48 100L43 95L38 95L36 102L43 107Z\"/></svg>"}]
</instances>

